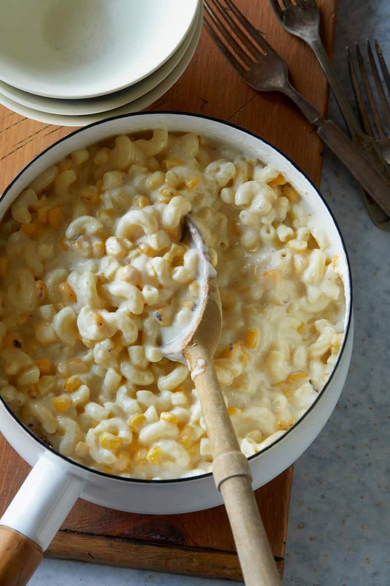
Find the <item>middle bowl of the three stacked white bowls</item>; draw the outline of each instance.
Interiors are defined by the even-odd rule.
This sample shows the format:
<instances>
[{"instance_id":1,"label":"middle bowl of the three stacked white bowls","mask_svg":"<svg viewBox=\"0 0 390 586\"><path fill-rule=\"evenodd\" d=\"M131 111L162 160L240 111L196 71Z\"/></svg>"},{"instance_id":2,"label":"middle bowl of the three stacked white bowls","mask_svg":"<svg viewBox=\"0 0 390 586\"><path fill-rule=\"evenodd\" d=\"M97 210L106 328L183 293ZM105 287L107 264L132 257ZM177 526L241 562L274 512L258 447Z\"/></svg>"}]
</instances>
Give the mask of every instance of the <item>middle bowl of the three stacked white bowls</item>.
<instances>
[{"instance_id":1,"label":"middle bowl of the three stacked white bowls","mask_svg":"<svg viewBox=\"0 0 390 586\"><path fill-rule=\"evenodd\" d=\"M0 80L0 93L6 98L9 98L9 100L18 102L27 108L40 110L47 114L59 114L61 116L96 114L129 104L153 90L154 87L158 86L177 67L194 38L195 30L199 22L199 12L201 12L200 6L196 12L195 21L192 23L188 34L175 53L161 67L158 67L156 71L151 73L150 76L144 77L143 80L123 90L114 91L113 93L105 94L105 96L85 98L84 100L61 100L31 94Z\"/></svg>"}]
</instances>

